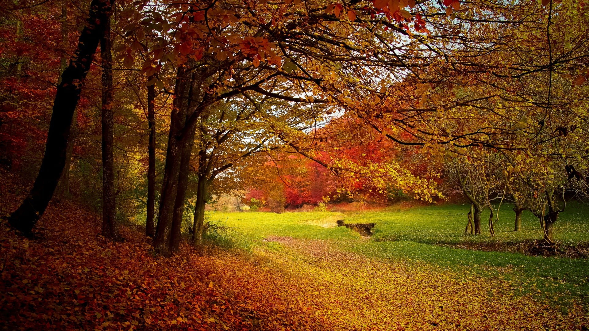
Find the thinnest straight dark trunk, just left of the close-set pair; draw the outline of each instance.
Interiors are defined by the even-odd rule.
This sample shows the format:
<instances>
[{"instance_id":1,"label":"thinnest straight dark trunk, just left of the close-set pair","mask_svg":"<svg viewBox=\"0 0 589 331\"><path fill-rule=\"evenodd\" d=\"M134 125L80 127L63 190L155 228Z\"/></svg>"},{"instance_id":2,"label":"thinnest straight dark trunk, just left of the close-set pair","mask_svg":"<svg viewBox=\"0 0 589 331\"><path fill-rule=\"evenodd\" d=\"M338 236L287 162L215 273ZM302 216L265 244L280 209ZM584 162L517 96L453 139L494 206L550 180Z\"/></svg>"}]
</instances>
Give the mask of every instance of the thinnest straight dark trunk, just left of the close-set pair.
<instances>
[{"instance_id":1,"label":"thinnest straight dark trunk, just left of the close-set pair","mask_svg":"<svg viewBox=\"0 0 589 331\"><path fill-rule=\"evenodd\" d=\"M150 77L150 80L153 77ZM149 143L147 145L147 219L145 221L145 235L153 237L155 214L155 85L147 87L147 124L149 125Z\"/></svg>"}]
</instances>

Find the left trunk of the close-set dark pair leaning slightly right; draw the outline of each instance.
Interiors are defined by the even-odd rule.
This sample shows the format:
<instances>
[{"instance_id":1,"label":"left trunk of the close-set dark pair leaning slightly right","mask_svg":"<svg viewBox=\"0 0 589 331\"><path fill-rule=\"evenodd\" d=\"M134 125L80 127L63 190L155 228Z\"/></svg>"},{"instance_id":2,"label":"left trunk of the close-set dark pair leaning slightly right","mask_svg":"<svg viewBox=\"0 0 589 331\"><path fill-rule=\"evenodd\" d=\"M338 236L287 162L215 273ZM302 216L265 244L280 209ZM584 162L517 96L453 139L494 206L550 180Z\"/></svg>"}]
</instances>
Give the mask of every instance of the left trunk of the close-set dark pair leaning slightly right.
<instances>
[{"instance_id":1,"label":"left trunk of the close-set dark pair leaning slightly right","mask_svg":"<svg viewBox=\"0 0 589 331\"><path fill-rule=\"evenodd\" d=\"M183 147L180 132L184 127L184 120L186 120L188 92L190 91L188 87L190 86L189 72L191 68L188 68L187 65L179 67L177 72L176 87L174 88L174 108L170 116L166 167L164 168L157 227L155 228L155 237L152 243L155 251L165 256L170 254L168 243L176 194L178 193L178 173L180 172Z\"/></svg>"}]
</instances>

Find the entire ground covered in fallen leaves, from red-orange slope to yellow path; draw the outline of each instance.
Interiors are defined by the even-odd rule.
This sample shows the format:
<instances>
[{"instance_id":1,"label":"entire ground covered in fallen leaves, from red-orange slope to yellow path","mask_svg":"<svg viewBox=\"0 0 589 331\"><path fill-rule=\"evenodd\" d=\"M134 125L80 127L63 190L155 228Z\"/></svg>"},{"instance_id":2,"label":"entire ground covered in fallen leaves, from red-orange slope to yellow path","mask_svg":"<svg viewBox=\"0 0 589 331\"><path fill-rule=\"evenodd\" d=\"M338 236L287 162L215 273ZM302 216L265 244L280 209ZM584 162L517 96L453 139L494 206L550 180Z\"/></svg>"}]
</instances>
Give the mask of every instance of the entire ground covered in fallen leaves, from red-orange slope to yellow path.
<instances>
[{"instance_id":1,"label":"entire ground covered in fallen leaves, from red-orange slope to yellow path","mask_svg":"<svg viewBox=\"0 0 589 331\"><path fill-rule=\"evenodd\" d=\"M16 199L14 199L16 201ZM18 201L17 201L18 202ZM2 199L2 203L14 204ZM141 229L124 243L100 219L52 205L39 239L0 226L2 330L586 330L507 282L369 259L326 240L271 237L283 249L190 247L154 256Z\"/></svg>"}]
</instances>

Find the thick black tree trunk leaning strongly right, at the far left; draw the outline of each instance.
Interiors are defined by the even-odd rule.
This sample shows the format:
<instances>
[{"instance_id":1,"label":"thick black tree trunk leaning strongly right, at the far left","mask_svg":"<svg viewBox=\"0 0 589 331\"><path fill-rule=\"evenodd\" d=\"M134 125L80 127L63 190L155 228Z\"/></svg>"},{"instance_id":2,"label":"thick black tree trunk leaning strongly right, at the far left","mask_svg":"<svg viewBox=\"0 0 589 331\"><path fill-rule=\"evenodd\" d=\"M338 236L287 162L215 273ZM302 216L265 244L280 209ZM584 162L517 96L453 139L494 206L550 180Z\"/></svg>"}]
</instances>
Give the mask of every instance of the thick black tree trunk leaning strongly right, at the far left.
<instances>
[{"instance_id":1,"label":"thick black tree trunk leaning strongly right, at the far left","mask_svg":"<svg viewBox=\"0 0 589 331\"><path fill-rule=\"evenodd\" d=\"M92 55L96 52L98 42L104 35L113 3L114 0L92 0L90 15L80 34L74 57L62 74L61 84L57 86L45 155L39 174L27 198L9 217L11 226L22 233L31 233L45 212L64 170L72 116L80 100L83 82L92 63Z\"/></svg>"}]
</instances>

